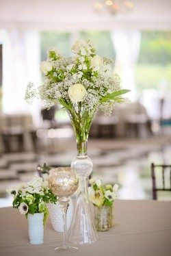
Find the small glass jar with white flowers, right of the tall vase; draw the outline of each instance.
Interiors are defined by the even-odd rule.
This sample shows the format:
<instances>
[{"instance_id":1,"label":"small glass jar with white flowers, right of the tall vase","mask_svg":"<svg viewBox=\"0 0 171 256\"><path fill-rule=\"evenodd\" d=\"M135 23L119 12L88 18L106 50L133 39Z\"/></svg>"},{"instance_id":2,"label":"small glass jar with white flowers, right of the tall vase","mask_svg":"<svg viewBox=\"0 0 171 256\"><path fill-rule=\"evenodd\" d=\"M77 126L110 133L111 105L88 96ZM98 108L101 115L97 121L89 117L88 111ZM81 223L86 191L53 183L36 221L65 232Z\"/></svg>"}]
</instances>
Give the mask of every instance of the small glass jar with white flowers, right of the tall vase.
<instances>
[{"instance_id":1,"label":"small glass jar with white flowers, right of the tall vase","mask_svg":"<svg viewBox=\"0 0 171 256\"><path fill-rule=\"evenodd\" d=\"M101 179L90 179L88 187L90 202L94 205L95 225L97 231L107 231L114 226L113 206L117 199L118 184L103 185Z\"/></svg>"}]
</instances>

